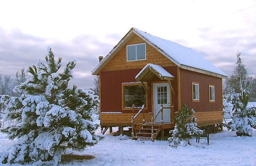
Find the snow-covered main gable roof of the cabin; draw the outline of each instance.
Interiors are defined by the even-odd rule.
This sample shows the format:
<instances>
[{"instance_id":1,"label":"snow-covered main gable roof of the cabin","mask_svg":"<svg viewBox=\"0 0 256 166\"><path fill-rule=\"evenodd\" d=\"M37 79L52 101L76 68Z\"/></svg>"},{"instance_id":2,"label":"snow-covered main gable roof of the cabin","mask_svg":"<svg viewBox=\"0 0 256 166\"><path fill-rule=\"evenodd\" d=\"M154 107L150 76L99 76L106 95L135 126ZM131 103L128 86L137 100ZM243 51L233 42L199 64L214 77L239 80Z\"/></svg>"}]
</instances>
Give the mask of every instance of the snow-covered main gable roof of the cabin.
<instances>
[{"instance_id":1,"label":"snow-covered main gable roof of the cabin","mask_svg":"<svg viewBox=\"0 0 256 166\"><path fill-rule=\"evenodd\" d=\"M133 32L134 34L141 37L152 47L156 48L159 52L165 55L168 59L170 59L177 66L187 66L196 69L201 69L205 71L209 71L212 73L216 73L222 76L227 76L222 70L214 66L211 62L204 59L197 52L192 50L191 48L184 47L178 43L175 43L170 40L162 39L157 36L151 35L149 33L143 32L136 28L132 28L126 36L110 51L108 55L106 55L101 62L95 67L92 71L93 74L98 74L98 69L103 65L105 65L105 61L112 55L112 53L125 41L125 38Z\"/></svg>"}]
</instances>

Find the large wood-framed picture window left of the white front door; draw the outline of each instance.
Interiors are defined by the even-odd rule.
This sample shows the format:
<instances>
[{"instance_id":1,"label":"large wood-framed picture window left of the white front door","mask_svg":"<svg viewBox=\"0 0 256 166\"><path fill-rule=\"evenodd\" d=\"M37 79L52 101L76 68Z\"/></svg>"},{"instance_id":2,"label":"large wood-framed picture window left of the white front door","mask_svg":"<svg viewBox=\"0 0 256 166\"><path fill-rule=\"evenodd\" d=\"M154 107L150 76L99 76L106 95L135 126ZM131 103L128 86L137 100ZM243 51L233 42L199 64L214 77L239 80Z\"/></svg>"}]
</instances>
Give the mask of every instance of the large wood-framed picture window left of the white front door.
<instances>
[{"instance_id":1,"label":"large wood-framed picture window left of the white front door","mask_svg":"<svg viewBox=\"0 0 256 166\"><path fill-rule=\"evenodd\" d=\"M127 83L122 84L122 107L123 109L131 109L134 104L135 107L147 108L147 96L141 83Z\"/></svg>"}]
</instances>

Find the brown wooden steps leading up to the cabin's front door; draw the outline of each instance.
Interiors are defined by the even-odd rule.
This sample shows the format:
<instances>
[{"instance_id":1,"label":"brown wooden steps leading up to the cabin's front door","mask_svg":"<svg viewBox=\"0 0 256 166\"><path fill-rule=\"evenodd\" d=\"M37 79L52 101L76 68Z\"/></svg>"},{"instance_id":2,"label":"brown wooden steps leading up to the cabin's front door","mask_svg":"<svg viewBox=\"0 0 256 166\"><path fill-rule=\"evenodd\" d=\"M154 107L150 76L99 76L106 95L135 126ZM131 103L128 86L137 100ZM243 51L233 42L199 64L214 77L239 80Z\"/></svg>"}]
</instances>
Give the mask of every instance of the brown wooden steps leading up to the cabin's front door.
<instances>
[{"instance_id":1,"label":"brown wooden steps leading up to the cabin's front door","mask_svg":"<svg viewBox=\"0 0 256 166\"><path fill-rule=\"evenodd\" d=\"M152 124L145 123L142 125L142 128L139 132L136 133L136 136L133 137L134 140L155 140L157 135L161 131L161 124L154 124L152 132Z\"/></svg>"}]
</instances>

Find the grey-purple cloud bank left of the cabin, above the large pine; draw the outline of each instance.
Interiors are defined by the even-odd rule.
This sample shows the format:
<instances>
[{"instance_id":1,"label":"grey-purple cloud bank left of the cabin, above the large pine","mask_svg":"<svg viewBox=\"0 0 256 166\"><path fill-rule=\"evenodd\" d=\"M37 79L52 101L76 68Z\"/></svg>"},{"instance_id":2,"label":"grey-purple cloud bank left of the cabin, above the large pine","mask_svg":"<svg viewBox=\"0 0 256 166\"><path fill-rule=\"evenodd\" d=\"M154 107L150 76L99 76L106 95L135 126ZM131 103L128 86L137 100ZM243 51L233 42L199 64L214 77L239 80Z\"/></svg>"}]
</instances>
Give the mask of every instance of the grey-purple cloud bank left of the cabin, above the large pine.
<instances>
[{"instance_id":1,"label":"grey-purple cloud bank left of the cabin, above the large pine","mask_svg":"<svg viewBox=\"0 0 256 166\"><path fill-rule=\"evenodd\" d=\"M113 34L108 34L106 37L111 35ZM45 62L44 56L47 54L47 47L50 46L56 58L62 57L62 69L73 57L78 58L74 79L70 81L70 85L89 89L93 87L95 76L91 75L91 70L98 64L98 56L106 55L120 38L122 36L113 36L109 42L93 35L81 35L70 41L58 41L25 34L19 30L8 32L0 28L0 74L14 78L17 71L32 66L39 59ZM83 46L77 48L81 45ZM107 51L100 52L102 50Z\"/></svg>"}]
</instances>

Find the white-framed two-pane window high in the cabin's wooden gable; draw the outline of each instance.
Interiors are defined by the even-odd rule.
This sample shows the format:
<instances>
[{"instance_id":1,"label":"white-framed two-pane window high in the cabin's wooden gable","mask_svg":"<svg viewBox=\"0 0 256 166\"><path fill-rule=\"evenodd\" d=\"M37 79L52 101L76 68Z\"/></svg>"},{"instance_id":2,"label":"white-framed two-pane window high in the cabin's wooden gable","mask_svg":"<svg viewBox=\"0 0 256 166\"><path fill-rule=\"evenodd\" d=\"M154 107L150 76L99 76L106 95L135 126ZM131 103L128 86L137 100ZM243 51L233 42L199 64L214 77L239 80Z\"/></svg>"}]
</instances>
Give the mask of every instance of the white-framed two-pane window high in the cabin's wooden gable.
<instances>
[{"instance_id":1,"label":"white-framed two-pane window high in the cabin's wooden gable","mask_svg":"<svg viewBox=\"0 0 256 166\"><path fill-rule=\"evenodd\" d=\"M146 59L146 43L127 45L126 50L127 61Z\"/></svg>"}]
</instances>

